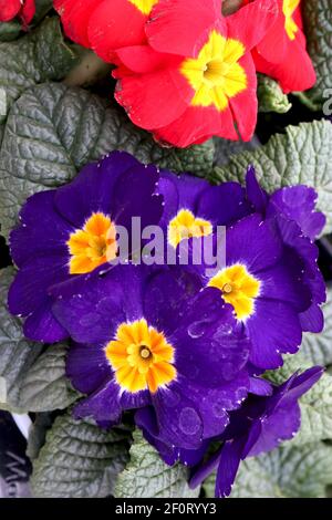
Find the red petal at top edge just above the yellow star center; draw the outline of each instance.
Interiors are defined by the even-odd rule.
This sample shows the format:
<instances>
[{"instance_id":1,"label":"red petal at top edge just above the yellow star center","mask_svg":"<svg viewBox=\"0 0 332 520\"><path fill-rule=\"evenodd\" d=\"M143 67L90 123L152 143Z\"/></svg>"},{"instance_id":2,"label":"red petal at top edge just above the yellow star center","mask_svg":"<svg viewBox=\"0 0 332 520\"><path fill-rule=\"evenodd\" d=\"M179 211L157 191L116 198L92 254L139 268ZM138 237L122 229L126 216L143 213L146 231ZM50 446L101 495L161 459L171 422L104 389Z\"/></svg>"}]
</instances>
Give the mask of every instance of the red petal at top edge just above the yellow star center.
<instances>
[{"instance_id":1,"label":"red petal at top edge just above the yellow star center","mask_svg":"<svg viewBox=\"0 0 332 520\"><path fill-rule=\"evenodd\" d=\"M221 0L159 0L145 31L156 51L196 58L217 20Z\"/></svg>"}]
</instances>

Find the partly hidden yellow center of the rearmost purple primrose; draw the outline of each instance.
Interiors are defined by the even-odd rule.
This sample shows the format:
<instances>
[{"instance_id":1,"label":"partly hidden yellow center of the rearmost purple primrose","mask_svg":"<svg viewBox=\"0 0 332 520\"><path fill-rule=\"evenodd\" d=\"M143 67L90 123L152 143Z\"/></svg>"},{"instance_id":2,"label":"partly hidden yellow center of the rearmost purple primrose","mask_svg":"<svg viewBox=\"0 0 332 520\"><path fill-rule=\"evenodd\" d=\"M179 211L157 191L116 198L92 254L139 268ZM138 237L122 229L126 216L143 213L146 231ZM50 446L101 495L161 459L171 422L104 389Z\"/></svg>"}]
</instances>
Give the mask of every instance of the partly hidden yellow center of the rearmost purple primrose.
<instances>
[{"instance_id":1,"label":"partly hidden yellow center of the rearmost purple primrose","mask_svg":"<svg viewBox=\"0 0 332 520\"><path fill-rule=\"evenodd\" d=\"M176 248L183 240L208 237L212 233L212 225L208 220L195 218L188 209L181 209L168 226L168 242Z\"/></svg>"}]
</instances>

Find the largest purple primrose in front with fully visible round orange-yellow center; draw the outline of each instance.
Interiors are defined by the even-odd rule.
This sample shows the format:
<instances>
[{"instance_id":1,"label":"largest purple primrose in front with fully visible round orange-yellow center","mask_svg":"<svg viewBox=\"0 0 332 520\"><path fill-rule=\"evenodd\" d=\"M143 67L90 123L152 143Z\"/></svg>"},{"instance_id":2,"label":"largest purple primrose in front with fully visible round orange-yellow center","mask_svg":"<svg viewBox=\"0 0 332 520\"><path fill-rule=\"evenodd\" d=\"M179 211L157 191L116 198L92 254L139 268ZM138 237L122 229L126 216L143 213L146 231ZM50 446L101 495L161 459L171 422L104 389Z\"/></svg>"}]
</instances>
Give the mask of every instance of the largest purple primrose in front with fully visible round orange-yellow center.
<instances>
[{"instance_id":1,"label":"largest purple primrose in front with fully visible round orange-yellow center","mask_svg":"<svg viewBox=\"0 0 332 520\"><path fill-rule=\"evenodd\" d=\"M58 287L53 312L75 341L74 410L100 425L151 407L162 443L195 449L226 428L249 389L248 340L230 305L178 267L118 266Z\"/></svg>"}]
</instances>

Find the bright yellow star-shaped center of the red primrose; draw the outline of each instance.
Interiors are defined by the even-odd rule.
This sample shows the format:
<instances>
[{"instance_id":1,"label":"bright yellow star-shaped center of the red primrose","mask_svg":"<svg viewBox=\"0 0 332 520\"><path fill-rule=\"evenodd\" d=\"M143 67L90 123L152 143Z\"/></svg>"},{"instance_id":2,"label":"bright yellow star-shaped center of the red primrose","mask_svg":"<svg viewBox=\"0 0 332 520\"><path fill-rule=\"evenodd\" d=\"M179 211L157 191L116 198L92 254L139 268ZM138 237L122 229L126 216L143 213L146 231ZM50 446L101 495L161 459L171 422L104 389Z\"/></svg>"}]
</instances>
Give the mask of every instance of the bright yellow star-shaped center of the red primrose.
<instances>
[{"instance_id":1,"label":"bright yellow star-shaped center of the red primrose","mask_svg":"<svg viewBox=\"0 0 332 520\"><path fill-rule=\"evenodd\" d=\"M247 74L238 63L245 52L240 41L211 31L198 58L181 64L180 71L195 91L193 106L215 106L222 112L230 97L247 89Z\"/></svg>"}]
</instances>

